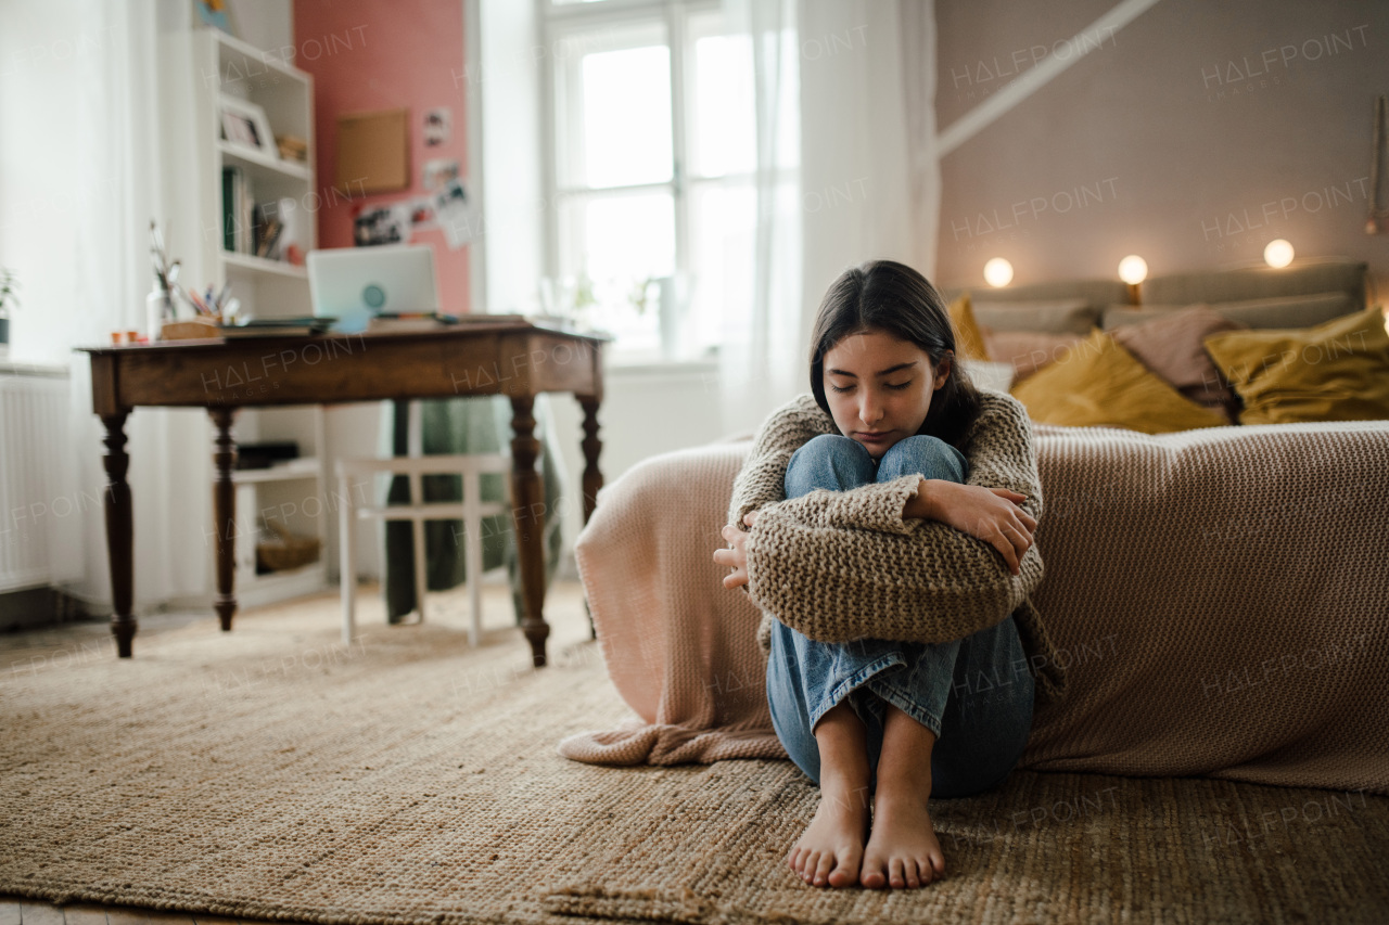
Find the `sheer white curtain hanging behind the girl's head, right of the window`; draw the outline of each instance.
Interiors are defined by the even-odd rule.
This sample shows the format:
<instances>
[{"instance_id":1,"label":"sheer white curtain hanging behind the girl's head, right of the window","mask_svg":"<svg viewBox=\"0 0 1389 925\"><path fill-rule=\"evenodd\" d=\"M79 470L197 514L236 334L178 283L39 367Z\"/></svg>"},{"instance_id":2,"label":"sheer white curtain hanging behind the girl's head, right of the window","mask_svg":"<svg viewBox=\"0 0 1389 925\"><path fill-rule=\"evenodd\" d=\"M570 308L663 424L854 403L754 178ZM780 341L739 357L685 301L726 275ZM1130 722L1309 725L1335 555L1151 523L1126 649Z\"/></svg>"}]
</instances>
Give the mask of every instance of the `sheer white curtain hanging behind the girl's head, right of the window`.
<instances>
[{"instance_id":1,"label":"sheer white curtain hanging behind the girl's head, right of the window","mask_svg":"<svg viewBox=\"0 0 1389 925\"><path fill-rule=\"evenodd\" d=\"M810 333L864 260L935 272L933 0L725 0L751 39L757 212L746 292L725 311L724 429L810 390ZM789 149L789 150L788 150Z\"/></svg>"}]
</instances>

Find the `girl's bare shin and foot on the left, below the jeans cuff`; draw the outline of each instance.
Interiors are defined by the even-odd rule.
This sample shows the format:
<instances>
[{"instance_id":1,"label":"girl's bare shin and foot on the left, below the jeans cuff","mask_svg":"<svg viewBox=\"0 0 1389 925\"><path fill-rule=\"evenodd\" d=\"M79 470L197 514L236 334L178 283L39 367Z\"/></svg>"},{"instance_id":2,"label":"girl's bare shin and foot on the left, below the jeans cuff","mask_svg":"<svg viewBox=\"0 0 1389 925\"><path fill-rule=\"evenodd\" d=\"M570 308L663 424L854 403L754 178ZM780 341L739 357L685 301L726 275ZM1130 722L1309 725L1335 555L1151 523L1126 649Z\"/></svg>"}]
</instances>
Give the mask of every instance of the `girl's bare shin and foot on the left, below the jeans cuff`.
<instances>
[{"instance_id":1,"label":"girl's bare shin and foot on the left, below the jeans cuff","mask_svg":"<svg viewBox=\"0 0 1389 925\"><path fill-rule=\"evenodd\" d=\"M786 854L811 886L854 886L868 838L868 742L858 714L838 703L815 722L820 807Z\"/></svg>"}]
</instances>

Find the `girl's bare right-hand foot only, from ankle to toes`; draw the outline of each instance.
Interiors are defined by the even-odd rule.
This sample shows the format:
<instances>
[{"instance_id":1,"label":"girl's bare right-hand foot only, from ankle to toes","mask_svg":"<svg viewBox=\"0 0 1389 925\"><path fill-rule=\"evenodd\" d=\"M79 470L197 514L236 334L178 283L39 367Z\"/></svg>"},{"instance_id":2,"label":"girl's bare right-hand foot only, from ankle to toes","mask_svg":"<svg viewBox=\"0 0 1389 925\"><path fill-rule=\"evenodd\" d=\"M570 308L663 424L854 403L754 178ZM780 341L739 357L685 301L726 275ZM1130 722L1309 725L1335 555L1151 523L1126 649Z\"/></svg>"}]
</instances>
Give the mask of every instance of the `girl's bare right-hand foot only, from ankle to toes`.
<instances>
[{"instance_id":1,"label":"girl's bare right-hand foot only, from ankle to toes","mask_svg":"<svg viewBox=\"0 0 1389 925\"><path fill-rule=\"evenodd\" d=\"M879 779L872 801L872 836L864 849L863 885L915 889L945 872L946 858L931 826L926 800L904 788L885 786Z\"/></svg>"}]
</instances>

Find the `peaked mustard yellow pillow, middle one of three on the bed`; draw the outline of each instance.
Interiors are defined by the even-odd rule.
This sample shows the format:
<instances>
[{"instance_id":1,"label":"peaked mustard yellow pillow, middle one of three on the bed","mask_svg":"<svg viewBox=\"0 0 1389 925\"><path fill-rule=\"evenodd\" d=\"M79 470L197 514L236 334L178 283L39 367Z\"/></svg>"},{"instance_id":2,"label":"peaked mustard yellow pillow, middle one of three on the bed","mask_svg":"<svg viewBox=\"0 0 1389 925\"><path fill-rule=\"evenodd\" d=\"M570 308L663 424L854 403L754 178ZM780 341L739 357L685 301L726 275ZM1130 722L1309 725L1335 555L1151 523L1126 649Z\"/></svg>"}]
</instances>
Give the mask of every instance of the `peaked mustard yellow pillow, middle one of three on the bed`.
<instances>
[{"instance_id":1,"label":"peaked mustard yellow pillow, middle one of three on the bed","mask_svg":"<svg viewBox=\"0 0 1389 925\"><path fill-rule=\"evenodd\" d=\"M1229 425L1224 414L1183 396L1099 328L1013 386L1013 396L1040 424L1143 433Z\"/></svg>"}]
</instances>

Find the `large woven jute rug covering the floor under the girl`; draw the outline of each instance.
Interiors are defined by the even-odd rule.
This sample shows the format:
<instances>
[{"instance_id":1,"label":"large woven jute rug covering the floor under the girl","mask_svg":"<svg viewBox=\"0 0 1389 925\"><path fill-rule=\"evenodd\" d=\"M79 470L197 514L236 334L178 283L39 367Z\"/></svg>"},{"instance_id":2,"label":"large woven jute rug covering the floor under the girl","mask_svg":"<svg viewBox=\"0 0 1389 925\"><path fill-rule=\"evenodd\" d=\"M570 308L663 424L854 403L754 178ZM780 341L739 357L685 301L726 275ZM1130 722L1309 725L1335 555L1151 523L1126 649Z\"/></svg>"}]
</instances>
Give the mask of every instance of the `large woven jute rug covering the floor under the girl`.
<instances>
[{"instance_id":1,"label":"large woven jute rug covering the floor under the girl","mask_svg":"<svg viewBox=\"0 0 1389 925\"><path fill-rule=\"evenodd\" d=\"M556 753L632 715L576 597L540 671L506 625L471 650L461 612L343 647L336 607L124 662L99 633L0 639L0 892L325 924L1389 919L1389 797L1217 781L1014 772L933 804L946 879L808 888L789 761Z\"/></svg>"}]
</instances>

